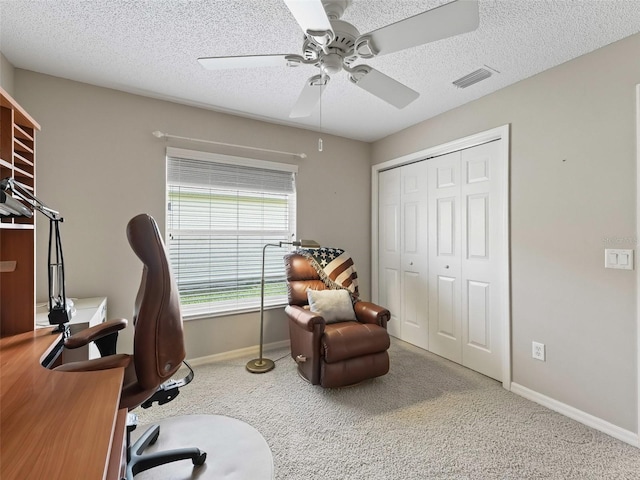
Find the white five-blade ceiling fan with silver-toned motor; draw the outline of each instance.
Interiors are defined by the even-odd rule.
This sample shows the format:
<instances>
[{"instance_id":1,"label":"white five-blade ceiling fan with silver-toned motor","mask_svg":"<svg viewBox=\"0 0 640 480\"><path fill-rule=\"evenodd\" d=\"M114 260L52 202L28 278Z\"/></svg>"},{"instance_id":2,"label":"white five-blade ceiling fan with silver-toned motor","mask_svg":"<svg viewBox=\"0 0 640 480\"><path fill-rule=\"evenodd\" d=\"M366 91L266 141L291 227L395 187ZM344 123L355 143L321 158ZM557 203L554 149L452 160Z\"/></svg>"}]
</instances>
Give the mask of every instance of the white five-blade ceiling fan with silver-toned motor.
<instances>
[{"instance_id":1,"label":"white five-blade ceiling fan with silver-toned motor","mask_svg":"<svg viewBox=\"0 0 640 480\"><path fill-rule=\"evenodd\" d=\"M290 117L311 115L330 75L344 70L349 80L396 108L404 108L419 97L415 90L388 77L359 59L370 59L478 28L477 0L454 0L400 20L367 34L340 17L353 0L284 0L304 32L302 55L245 55L202 57L210 70L314 65L320 73L309 78Z\"/></svg>"}]
</instances>

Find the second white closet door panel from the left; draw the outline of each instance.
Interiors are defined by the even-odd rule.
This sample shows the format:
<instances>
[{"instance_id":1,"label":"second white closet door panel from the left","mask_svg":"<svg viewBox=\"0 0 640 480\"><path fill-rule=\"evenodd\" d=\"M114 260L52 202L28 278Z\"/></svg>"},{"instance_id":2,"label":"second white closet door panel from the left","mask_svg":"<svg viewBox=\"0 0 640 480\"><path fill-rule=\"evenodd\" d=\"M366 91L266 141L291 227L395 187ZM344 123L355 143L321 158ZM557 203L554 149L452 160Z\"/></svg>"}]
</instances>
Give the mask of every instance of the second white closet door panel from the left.
<instances>
[{"instance_id":1,"label":"second white closet door panel from the left","mask_svg":"<svg viewBox=\"0 0 640 480\"><path fill-rule=\"evenodd\" d=\"M405 165L398 170L402 187L400 338L428 349L427 162Z\"/></svg>"}]
</instances>

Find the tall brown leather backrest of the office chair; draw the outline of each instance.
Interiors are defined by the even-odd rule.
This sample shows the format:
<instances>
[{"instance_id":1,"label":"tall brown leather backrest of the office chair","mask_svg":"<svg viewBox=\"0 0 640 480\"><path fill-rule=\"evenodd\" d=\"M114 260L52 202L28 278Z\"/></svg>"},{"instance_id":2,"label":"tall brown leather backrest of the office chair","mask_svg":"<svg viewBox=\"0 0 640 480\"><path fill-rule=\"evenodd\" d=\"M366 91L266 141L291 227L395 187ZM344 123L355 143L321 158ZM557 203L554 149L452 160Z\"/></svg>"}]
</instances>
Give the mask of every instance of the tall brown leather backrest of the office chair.
<instances>
[{"instance_id":1,"label":"tall brown leather backrest of the office chair","mask_svg":"<svg viewBox=\"0 0 640 480\"><path fill-rule=\"evenodd\" d=\"M186 355L180 295L153 217L132 218L127 238L144 264L133 313L133 361L138 384L154 389L180 368Z\"/></svg>"}]
</instances>

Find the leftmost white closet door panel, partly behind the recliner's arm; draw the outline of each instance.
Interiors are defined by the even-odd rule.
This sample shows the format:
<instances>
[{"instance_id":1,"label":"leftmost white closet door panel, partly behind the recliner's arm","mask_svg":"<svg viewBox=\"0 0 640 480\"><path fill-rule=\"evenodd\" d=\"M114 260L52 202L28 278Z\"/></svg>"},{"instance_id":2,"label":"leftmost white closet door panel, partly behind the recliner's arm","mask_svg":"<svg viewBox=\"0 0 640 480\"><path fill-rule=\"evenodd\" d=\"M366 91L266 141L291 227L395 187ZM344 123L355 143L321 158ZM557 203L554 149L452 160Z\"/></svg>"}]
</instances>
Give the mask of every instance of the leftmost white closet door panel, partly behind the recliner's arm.
<instances>
[{"instance_id":1,"label":"leftmost white closet door panel, partly behind the recliner's arm","mask_svg":"<svg viewBox=\"0 0 640 480\"><path fill-rule=\"evenodd\" d=\"M400 169L378 175L378 303L391 312L390 335L402 338L400 265Z\"/></svg>"}]
</instances>

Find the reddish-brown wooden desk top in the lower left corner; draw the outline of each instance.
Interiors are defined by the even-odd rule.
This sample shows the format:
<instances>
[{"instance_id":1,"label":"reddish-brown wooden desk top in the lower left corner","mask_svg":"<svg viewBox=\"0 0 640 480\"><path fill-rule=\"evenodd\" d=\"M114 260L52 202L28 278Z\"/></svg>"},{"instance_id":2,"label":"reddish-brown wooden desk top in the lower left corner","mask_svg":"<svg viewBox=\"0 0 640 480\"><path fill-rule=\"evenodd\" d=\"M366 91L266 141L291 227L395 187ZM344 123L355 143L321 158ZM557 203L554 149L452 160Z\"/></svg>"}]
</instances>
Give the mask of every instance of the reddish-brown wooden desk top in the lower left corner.
<instances>
[{"instance_id":1,"label":"reddish-brown wooden desk top in the lower left corner","mask_svg":"<svg viewBox=\"0 0 640 480\"><path fill-rule=\"evenodd\" d=\"M0 478L103 480L122 458L124 369L42 367L60 341L51 330L0 339Z\"/></svg>"}]
</instances>

